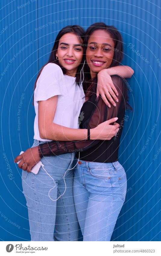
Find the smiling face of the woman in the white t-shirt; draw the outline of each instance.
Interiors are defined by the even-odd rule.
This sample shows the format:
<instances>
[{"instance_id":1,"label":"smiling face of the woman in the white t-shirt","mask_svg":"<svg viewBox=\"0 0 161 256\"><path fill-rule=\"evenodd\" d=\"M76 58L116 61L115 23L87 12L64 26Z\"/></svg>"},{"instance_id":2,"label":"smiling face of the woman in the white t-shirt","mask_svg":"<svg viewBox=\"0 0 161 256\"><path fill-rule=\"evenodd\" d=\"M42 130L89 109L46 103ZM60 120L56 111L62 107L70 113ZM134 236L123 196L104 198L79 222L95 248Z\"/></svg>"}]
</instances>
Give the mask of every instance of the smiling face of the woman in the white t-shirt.
<instances>
[{"instance_id":1,"label":"smiling face of the woman in the white t-shirt","mask_svg":"<svg viewBox=\"0 0 161 256\"><path fill-rule=\"evenodd\" d=\"M59 40L56 56L58 56L59 64L67 70L66 74L75 77L83 58L83 47L77 35L64 34Z\"/></svg>"}]
</instances>

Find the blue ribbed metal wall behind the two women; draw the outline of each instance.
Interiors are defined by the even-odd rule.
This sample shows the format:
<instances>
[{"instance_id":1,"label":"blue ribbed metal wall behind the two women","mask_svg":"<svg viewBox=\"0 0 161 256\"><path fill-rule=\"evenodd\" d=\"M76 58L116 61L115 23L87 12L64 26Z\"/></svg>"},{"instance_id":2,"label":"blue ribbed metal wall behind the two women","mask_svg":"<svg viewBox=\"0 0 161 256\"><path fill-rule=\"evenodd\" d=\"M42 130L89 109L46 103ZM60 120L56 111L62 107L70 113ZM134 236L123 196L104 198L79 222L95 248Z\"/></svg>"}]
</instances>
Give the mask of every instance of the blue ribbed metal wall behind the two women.
<instances>
[{"instance_id":1,"label":"blue ribbed metal wall behind the two women","mask_svg":"<svg viewBox=\"0 0 161 256\"><path fill-rule=\"evenodd\" d=\"M21 170L14 164L14 157L21 149L26 150L33 143L35 113L32 97L38 70L48 60L55 37L62 27L79 24L86 29L94 22L103 21L116 26L122 33L125 53L122 64L131 66L135 72L128 81L132 90L129 96L133 112L126 113L128 121L125 122L119 149L119 161L127 173L128 191L111 240L160 241L161 67L157 63L157 59L161 62L160 1L28 2L29 4L19 8L27 1L7 0L3 5L1 3L0 8L0 239L30 240L26 201L22 194ZM75 20L71 22L62 21L74 17ZM37 27L43 25L42 29L37 30ZM129 44L133 45L132 48ZM137 51L149 63L140 58L136 54ZM5 68L7 71L2 74ZM24 99L21 103L21 125L18 131L17 112L22 93ZM153 131L150 137L151 129ZM148 137L150 140L147 142ZM6 169L8 166L5 159L10 165L10 172ZM14 226L14 223L17 226Z\"/></svg>"}]
</instances>

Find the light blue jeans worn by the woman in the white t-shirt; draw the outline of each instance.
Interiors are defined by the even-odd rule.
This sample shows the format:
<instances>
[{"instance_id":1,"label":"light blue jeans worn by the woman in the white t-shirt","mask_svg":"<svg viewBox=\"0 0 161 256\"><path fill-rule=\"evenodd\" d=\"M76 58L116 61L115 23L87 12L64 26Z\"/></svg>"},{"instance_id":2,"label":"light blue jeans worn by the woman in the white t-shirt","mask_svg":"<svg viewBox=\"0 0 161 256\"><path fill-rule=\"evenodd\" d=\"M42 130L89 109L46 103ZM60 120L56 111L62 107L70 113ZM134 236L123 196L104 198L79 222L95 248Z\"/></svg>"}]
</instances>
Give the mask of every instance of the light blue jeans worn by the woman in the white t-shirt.
<instances>
[{"instance_id":1,"label":"light blue jeans worn by the woman in the white t-shirt","mask_svg":"<svg viewBox=\"0 0 161 256\"><path fill-rule=\"evenodd\" d=\"M44 142L34 140L32 147L38 143ZM66 183L65 194L57 201L49 198L49 190L55 184L42 167L38 174L22 170L22 187L28 207L31 241L78 241L79 224L73 198L73 170L68 170L65 174L67 169L72 168L73 159L74 153L41 159L44 169L56 184L49 194L53 200L63 194Z\"/></svg>"}]
</instances>

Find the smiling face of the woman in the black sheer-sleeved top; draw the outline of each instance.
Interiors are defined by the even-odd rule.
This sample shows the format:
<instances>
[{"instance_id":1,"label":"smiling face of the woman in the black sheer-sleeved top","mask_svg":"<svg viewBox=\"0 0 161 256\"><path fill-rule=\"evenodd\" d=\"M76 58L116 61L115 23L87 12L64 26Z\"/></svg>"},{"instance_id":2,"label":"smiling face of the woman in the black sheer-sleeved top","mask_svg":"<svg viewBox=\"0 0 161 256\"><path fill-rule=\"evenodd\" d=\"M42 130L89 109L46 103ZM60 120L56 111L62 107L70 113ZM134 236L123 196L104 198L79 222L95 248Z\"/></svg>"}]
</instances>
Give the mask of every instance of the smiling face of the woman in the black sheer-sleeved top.
<instances>
[{"instance_id":1,"label":"smiling face of the woman in the black sheer-sleeved top","mask_svg":"<svg viewBox=\"0 0 161 256\"><path fill-rule=\"evenodd\" d=\"M114 56L115 43L106 30L94 31L88 39L86 61L91 77L104 68L109 68Z\"/></svg>"}]
</instances>

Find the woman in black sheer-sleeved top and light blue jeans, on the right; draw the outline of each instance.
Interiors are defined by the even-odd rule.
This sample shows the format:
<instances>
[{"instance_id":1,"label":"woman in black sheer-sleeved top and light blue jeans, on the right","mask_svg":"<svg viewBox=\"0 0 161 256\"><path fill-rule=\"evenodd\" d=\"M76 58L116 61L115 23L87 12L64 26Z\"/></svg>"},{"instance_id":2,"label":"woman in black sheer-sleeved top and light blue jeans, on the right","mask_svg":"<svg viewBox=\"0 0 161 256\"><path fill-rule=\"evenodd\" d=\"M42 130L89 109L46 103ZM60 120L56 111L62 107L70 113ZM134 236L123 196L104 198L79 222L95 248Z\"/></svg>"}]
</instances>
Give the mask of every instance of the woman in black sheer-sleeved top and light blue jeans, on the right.
<instances>
[{"instance_id":1,"label":"woman in black sheer-sleeved top and light blue jeans, on the right","mask_svg":"<svg viewBox=\"0 0 161 256\"><path fill-rule=\"evenodd\" d=\"M90 131L117 116L119 131L108 141L88 139L40 144L39 156L77 152L74 203L84 241L110 241L127 187L125 170L118 162L118 147L128 96L122 78L112 76L118 90L118 102L116 106L107 107L97 94L97 74L121 62L122 37L115 27L96 23L87 29L84 43L87 46L84 68L87 79L83 84L86 102L81 109L80 128Z\"/></svg>"}]
</instances>

